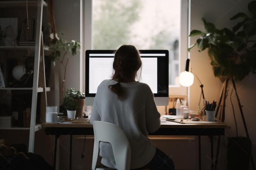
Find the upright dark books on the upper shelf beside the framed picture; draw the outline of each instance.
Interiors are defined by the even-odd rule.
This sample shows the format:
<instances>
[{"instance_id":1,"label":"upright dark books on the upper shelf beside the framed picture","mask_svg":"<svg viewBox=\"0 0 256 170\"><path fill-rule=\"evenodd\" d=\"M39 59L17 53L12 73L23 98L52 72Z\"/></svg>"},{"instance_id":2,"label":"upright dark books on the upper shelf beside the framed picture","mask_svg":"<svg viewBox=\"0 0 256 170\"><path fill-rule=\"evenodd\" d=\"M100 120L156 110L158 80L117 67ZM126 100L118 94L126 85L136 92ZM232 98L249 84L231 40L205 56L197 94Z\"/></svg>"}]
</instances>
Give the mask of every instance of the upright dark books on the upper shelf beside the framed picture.
<instances>
[{"instance_id":1,"label":"upright dark books on the upper shelf beside the framed picture","mask_svg":"<svg viewBox=\"0 0 256 170\"><path fill-rule=\"evenodd\" d=\"M20 31L19 46L34 46L36 44L36 19L25 20Z\"/></svg>"}]
</instances>

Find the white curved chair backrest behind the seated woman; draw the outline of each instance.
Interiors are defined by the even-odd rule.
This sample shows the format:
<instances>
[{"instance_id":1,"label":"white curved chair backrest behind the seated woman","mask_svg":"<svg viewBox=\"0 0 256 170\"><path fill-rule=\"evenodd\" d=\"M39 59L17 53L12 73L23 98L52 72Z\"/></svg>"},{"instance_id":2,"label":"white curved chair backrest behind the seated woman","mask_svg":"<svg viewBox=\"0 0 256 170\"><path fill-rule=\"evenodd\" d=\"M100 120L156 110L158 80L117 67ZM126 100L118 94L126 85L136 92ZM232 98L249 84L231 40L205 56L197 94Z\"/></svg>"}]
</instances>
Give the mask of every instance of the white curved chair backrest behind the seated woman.
<instances>
[{"instance_id":1,"label":"white curved chair backrest behind the seated woman","mask_svg":"<svg viewBox=\"0 0 256 170\"><path fill-rule=\"evenodd\" d=\"M92 170L95 170L99 155L99 142L112 145L118 170L130 170L131 148L123 130L115 124L103 121L93 121L94 148L92 155Z\"/></svg>"}]
</instances>

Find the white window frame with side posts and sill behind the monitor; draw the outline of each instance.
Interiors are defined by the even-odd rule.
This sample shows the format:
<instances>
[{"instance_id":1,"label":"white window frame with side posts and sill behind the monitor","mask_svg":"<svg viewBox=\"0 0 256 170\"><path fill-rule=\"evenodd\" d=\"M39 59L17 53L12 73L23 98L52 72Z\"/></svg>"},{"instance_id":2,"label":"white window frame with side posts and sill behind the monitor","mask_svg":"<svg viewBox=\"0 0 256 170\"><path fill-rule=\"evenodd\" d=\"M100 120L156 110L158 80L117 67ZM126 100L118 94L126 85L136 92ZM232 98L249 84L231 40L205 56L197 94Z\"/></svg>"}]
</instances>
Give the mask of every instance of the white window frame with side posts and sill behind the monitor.
<instances>
[{"instance_id":1,"label":"white window frame with side posts and sill behind the monitor","mask_svg":"<svg viewBox=\"0 0 256 170\"><path fill-rule=\"evenodd\" d=\"M179 72L185 70L186 59L189 57L188 53L188 33L189 33L189 11L190 0L181 0L181 29L179 41ZM92 0L81 0L81 55L85 56L85 51L92 49ZM85 57L81 57L85 65ZM85 68L81 73L81 80L85 85ZM188 88L180 85L170 85L169 95L188 95Z\"/></svg>"}]
</instances>

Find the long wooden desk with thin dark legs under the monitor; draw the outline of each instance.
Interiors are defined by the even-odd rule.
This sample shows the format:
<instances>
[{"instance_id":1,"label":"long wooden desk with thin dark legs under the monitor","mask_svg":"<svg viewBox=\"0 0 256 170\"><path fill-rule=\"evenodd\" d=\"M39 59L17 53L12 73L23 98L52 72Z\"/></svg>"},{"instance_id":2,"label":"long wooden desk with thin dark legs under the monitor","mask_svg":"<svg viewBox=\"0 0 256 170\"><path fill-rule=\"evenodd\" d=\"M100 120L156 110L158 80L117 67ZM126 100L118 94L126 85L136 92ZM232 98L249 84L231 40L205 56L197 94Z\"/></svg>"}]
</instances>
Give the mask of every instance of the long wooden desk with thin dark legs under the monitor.
<instances>
[{"instance_id":1,"label":"long wooden desk with thin dark legs under the monitor","mask_svg":"<svg viewBox=\"0 0 256 170\"><path fill-rule=\"evenodd\" d=\"M72 135L93 135L93 127L87 119L74 120L72 124L45 123L45 132L47 135L55 135L54 147L54 169L56 164L56 146L60 135L71 135L70 137L70 170L71 170L71 154L72 154ZM198 136L199 144L199 168L201 170L201 141L200 136L209 136L211 139L211 160L212 169L214 166L213 157L213 136L225 134L225 123L203 123L195 122L194 124L180 124L173 121L165 121L161 118L160 128L149 135L192 135Z\"/></svg>"}]
</instances>

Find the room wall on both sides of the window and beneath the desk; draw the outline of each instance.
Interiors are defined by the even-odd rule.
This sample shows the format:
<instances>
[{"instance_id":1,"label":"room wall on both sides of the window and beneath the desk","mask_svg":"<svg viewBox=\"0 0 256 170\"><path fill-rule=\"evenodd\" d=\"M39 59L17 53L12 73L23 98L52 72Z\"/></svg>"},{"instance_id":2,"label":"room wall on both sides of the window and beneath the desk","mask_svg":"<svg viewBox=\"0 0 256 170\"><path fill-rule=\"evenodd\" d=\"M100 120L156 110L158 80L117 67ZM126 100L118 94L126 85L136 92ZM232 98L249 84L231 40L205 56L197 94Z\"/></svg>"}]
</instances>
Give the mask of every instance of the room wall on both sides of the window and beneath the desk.
<instances>
[{"instance_id":1,"label":"room wall on both sides of the window and beneath the desk","mask_svg":"<svg viewBox=\"0 0 256 170\"><path fill-rule=\"evenodd\" d=\"M54 0L54 13L56 17L56 26L57 29L64 31L67 39L77 39L79 40L79 12L80 9L77 7L79 0ZM192 29L203 29L203 23L201 18L204 17L207 21L213 22L216 24L216 27L221 29L222 27L231 28L234 24L229 21L229 18L236 14L238 11L247 11L247 4L249 0L243 0L237 2L239 7L236 7L235 1L230 0L191 0L191 30ZM191 38L191 44L195 42L196 38ZM81 56L83 57L83 56ZM218 101L220 98L220 92L222 89L222 83L220 80L213 76L212 68L210 65L210 60L207 55L207 51L198 52L196 48L191 50L191 67L193 72L199 77L200 81L204 85L204 95L207 100ZM67 78L65 83L65 89L68 87L79 88L79 66L80 66L79 57L75 57L74 60L69 63ZM62 78L60 68L60 82ZM256 126L254 121L256 119L256 90L255 90L256 76L250 74L243 81L236 82L238 88L238 93L240 97L241 104L243 105L243 112L245 114L245 119L247 122L247 128L249 130L249 135L253 141L253 153L254 159L256 158ZM225 131L225 136L221 138L221 148L220 148L220 158L218 159L218 169L225 170L226 168L226 157L227 157L227 137L235 136L235 126L234 126L234 117L231 109L231 103L229 102L231 88L229 87L229 96L227 97L227 106L226 106L226 118L225 122L230 128ZM189 104L192 110L196 110L197 104L200 99L200 84L195 83L190 87L190 100ZM240 118L240 112L238 105L236 103L236 98L234 95L231 96L233 99L236 119L238 121L239 136L245 135L243 124ZM202 104L202 102L201 102ZM60 152L60 164L61 169L68 169L69 161L69 137L61 137L62 142L62 151ZM197 138L196 138L197 139ZM198 170L198 140L185 140L185 141L156 141L157 146L162 146L163 148L168 148L165 152L168 155L174 155L172 157L175 160L175 166L177 169L183 170ZM214 138L214 145L216 147L217 138ZM90 163L90 158L81 159L80 151L83 148L83 140L81 137L76 138L73 136L74 150L79 152L73 154L73 169L87 169L88 163ZM211 161L209 153L209 138L202 137L202 169L209 168ZM183 144L184 143L184 144ZM161 145L160 145L161 144ZM182 145L181 145L182 144ZM92 147L92 142L86 145L86 148ZM176 149L180 148L180 152L176 152ZM193 153L190 153L192 151ZM191 159L186 158L184 160L184 155L188 154L191 156ZM86 153L85 153L86 154ZM88 152L90 155L91 152ZM87 162L85 163L85 161ZM255 161L256 162L256 161ZM87 167L87 168L85 168ZM252 169L252 168L251 168Z\"/></svg>"}]
</instances>

